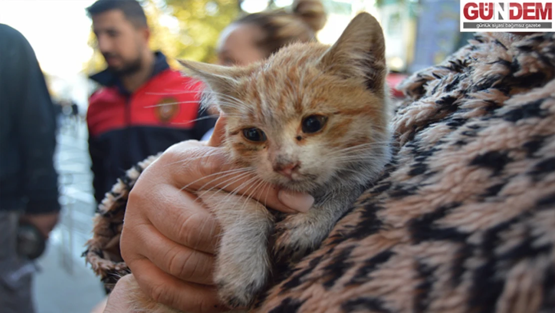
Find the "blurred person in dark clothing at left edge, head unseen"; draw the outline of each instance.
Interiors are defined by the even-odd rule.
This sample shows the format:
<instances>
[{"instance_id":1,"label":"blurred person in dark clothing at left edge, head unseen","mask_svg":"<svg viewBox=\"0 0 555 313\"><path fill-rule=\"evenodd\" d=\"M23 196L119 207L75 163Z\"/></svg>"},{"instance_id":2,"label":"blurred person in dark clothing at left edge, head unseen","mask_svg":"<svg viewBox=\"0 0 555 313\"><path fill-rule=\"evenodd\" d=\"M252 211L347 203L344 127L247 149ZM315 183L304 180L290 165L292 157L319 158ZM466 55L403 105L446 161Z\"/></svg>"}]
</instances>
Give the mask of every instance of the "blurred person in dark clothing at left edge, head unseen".
<instances>
[{"instance_id":1,"label":"blurred person in dark clothing at left edge, head unseen","mask_svg":"<svg viewBox=\"0 0 555 313\"><path fill-rule=\"evenodd\" d=\"M56 113L33 48L0 24L0 311L34 312L32 259L18 230L41 242L58 221Z\"/></svg>"}]
</instances>

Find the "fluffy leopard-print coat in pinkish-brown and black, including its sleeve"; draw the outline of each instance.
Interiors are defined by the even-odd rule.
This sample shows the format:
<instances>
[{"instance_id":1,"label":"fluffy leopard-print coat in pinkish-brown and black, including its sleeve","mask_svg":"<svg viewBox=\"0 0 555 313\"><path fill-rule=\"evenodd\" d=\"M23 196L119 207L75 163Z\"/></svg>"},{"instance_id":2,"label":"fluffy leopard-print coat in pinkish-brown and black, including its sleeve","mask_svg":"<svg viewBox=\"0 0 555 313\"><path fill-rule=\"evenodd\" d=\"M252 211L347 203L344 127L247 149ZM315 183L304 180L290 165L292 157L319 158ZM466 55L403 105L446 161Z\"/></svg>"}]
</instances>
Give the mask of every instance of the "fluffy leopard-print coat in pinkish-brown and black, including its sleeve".
<instances>
[{"instance_id":1,"label":"fluffy leopard-print coat in pinkish-brown and black, including its sleeve","mask_svg":"<svg viewBox=\"0 0 555 313\"><path fill-rule=\"evenodd\" d=\"M390 165L251 311L555 312L554 77L553 33L478 33L413 74ZM107 286L148 163L100 205L85 256Z\"/></svg>"}]
</instances>

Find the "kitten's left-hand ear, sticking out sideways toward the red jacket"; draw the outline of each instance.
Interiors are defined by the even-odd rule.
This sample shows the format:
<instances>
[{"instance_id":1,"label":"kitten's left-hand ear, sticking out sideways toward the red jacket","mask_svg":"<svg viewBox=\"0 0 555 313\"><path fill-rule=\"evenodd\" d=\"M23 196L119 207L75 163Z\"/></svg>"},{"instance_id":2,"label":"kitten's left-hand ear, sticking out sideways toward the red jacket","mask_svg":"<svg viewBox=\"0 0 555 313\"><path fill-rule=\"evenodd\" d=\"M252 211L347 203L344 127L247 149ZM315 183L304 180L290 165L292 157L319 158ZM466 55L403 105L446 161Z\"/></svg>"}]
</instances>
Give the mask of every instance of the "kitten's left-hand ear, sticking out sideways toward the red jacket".
<instances>
[{"instance_id":1,"label":"kitten's left-hand ear, sticking out sideways toward the red jacket","mask_svg":"<svg viewBox=\"0 0 555 313\"><path fill-rule=\"evenodd\" d=\"M208 64L195 61L178 60L185 67L185 72L191 77L204 82L208 87L203 91L203 106L217 106L224 113L233 110L235 106L227 106L229 101L224 101L230 96L234 97L238 91L238 78L245 74L244 69Z\"/></svg>"}]
</instances>

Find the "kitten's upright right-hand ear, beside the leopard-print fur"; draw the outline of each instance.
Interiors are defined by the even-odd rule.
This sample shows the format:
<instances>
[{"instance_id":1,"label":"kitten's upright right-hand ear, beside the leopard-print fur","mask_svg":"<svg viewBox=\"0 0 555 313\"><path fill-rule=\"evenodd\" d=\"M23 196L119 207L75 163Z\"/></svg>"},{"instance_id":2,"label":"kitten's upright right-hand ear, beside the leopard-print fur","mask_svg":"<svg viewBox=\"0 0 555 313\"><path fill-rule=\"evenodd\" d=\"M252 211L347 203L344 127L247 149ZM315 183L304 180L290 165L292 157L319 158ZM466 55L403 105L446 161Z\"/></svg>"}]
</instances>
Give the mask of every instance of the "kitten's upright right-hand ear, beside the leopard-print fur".
<instances>
[{"instance_id":1,"label":"kitten's upright right-hand ear, beside the leopard-print fur","mask_svg":"<svg viewBox=\"0 0 555 313\"><path fill-rule=\"evenodd\" d=\"M320 62L325 72L360 79L370 90L383 92L387 69L380 23L369 13L359 13Z\"/></svg>"}]
</instances>

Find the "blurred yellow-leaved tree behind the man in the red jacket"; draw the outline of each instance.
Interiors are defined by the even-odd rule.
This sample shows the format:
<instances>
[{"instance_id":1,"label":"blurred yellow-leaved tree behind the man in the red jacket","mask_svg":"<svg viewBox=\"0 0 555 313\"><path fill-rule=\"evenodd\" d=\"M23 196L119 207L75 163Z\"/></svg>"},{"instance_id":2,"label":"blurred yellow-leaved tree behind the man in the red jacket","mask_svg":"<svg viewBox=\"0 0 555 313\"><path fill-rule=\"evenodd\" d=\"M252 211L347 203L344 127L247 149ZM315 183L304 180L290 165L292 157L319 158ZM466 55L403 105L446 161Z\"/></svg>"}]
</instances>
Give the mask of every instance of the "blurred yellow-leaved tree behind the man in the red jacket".
<instances>
[{"instance_id":1,"label":"blurred yellow-leaved tree behind the man in the red jacket","mask_svg":"<svg viewBox=\"0 0 555 313\"><path fill-rule=\"evenodd\" d=\"M240 9L238 0L139 0L147 14L152 37L150 46L168 57L170 66L178 68L176 58L214 62L218 36L233 22ZM88 45L93 55L83 65L86 74L105 68L94 33Z\"/></svg>"}]
</instances>

